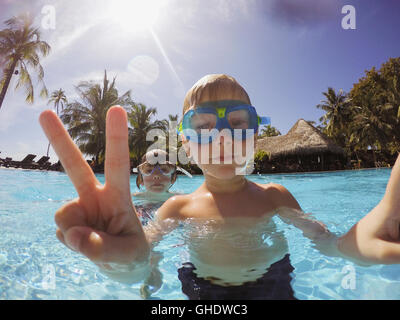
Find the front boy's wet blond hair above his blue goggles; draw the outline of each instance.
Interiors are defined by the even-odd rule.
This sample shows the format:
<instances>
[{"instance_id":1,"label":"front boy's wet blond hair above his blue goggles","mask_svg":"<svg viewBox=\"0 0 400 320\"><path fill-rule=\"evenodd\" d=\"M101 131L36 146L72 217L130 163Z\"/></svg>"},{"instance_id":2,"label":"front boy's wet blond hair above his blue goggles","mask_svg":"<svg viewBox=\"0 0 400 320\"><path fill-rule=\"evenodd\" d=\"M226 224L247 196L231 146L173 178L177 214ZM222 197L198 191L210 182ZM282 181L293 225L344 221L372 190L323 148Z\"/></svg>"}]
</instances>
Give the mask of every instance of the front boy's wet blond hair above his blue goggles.
<instances>
[{"instance_id":1,"label":"front boy's wet blond hair above his blue goggles","mask_svg":"<svg viewBox=\"0 0 400 320\"><path fill-rule=\"evenodd\" d=\"M208 74L198 80L186 93L183 114L202 102L218 100L240 100L251 104L246 90L235 78L226 74Z\"/></svg>"}]
</instances>

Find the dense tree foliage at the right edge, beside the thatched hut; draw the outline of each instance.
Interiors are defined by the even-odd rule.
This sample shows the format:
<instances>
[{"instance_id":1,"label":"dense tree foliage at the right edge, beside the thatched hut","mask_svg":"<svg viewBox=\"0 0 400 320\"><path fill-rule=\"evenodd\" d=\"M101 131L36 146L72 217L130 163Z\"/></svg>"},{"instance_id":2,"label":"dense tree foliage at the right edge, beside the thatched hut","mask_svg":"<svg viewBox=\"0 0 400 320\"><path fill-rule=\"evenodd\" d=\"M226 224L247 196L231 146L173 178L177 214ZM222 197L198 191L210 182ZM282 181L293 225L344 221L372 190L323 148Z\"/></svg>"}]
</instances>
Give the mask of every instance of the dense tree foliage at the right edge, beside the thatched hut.
<instances>
[{"instance_id":1,"label":"dense tree foliage at the right edge, beside the thatched hut","mask_svg":"<svg viewBox=\"0 0 400 320\"><path fill-rule=\"evenodd\" d=\"M328 88L317 108L322 131L348 154L372 149L395 154L400 151L400 58L390 58L379 70L372 68L348 94Z\"/></svg>"}]
</instances>

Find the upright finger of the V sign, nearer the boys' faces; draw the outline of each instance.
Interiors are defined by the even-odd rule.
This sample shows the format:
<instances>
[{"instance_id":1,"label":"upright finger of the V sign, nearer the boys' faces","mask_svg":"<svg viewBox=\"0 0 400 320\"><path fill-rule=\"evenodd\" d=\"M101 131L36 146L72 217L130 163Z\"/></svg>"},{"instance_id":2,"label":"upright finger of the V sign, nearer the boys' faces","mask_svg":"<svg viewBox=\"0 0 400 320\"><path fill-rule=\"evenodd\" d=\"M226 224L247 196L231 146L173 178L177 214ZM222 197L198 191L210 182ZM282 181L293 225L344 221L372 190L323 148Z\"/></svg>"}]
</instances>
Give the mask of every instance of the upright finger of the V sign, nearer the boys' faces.
<instances>
[{"instance_id":1,"label":"upright finger of the V sign, nearer the boys' faces","mask_svg":"<svg viewBox=\"0 0 400 320\"><path fill-rule=\"evenodd\" d=\"M106 122L106 186L130 195L128 124L125 110L111 107Z\"/></svg>"}]
</instances>

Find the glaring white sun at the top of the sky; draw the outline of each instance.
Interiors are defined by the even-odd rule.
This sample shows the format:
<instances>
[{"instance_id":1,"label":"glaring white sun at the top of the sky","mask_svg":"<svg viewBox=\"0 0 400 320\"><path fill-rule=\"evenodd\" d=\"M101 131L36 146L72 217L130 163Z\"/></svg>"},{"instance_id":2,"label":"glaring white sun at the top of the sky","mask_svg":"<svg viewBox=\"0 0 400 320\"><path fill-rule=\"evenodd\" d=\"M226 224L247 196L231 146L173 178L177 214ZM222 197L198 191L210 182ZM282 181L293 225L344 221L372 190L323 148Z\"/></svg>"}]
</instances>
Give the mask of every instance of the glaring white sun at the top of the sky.
<instances>
[{"instance_id":1,"label":"glaring white sun at the top of the sky","mask_svg":"<svg viewBox=\"0 0 400 320\"><path fill-rule=\"evenodd\" d=\"M107 16L124 29L143 31L157 21L165 0L112 0L107 6Z\"/></svg>"}]
</instances>

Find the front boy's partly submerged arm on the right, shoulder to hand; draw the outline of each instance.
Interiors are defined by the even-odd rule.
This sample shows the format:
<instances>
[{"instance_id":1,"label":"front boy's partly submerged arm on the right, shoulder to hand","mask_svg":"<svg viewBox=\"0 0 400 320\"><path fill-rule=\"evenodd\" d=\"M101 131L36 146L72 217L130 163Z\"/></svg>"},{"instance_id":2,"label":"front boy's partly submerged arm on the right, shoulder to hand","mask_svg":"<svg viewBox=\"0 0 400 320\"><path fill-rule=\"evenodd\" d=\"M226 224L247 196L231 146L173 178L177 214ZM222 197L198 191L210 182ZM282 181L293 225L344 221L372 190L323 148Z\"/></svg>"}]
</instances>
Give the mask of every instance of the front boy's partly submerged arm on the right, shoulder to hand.
<instances>
[{"instance_id":1,"label":"front boy's partly submerged arm on the right, shoulder to hand","mask_svg":"<svg viewBox=\"0 0 400 320\"><path fill-rule=\"evenodd\" d=\"M341 237L303 213L283 186L280 190L280 217L303 230L317 248L327 255L341 256L358 264L400 263L400 155L393 166L385 195L378 205ZM296 213L297 211L297 213ZM326 231L324 231L324 227Z\"/></svg>"}]
</instances>

